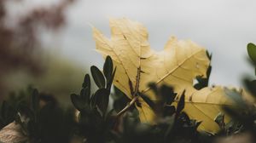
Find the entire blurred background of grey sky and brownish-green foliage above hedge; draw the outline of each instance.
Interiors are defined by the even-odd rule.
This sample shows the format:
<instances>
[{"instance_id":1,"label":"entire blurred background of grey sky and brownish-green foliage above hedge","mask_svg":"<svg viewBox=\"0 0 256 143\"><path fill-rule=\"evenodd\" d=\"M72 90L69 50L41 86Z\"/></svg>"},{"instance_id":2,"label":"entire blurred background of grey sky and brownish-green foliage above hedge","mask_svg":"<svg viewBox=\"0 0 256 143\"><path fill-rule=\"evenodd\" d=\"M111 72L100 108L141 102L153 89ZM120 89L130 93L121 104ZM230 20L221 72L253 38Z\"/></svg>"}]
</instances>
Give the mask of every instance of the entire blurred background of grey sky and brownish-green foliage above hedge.
<instances>
[{"instance_id":1,"label":"entire blurred background of grey sky and brownish-green foliage above hedge","mask_svg":"<svg viewBox=\"0 0 256 143\"><path fill-rule=\"evenodd\" d=\"M0 98L32 84L67 101L90 66L103 64L91 25L110 37L108 19L119 17L143 23L152 49L170 36L200 44L213 55L210 83L241 86L253 75L254 14L253 0L1 0Z\"/></svg>"}]
</instances>

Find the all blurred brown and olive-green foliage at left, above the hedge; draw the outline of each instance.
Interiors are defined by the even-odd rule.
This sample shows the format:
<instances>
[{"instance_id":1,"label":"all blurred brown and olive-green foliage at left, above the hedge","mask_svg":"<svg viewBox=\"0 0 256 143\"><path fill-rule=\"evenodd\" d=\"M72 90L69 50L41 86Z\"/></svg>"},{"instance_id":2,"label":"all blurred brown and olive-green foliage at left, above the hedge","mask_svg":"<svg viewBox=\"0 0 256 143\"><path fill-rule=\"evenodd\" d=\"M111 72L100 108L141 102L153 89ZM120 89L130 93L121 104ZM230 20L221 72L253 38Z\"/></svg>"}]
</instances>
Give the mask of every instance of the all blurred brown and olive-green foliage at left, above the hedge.
<instances>
[{"instance_id":1,"label":"all blurred brown and olive-green foliage at left, above the hedge","mask_svg":"<svg viewBox=\"0 0 256 143\"><path fill-rule=\"evenodd\" d=\"M22 0L12 4L22 4ZM61 0L55 5L38 7L16 15L9 26L9 1L0 1L0 99L9 91L37 85L69 103L69 93L78 91L84 68L67 60L52 49L46 51L41 31L55 33L65 25L65 9L73 0ZM68 82L67 82L68 81Z\"/></svg>"}]
</instances>

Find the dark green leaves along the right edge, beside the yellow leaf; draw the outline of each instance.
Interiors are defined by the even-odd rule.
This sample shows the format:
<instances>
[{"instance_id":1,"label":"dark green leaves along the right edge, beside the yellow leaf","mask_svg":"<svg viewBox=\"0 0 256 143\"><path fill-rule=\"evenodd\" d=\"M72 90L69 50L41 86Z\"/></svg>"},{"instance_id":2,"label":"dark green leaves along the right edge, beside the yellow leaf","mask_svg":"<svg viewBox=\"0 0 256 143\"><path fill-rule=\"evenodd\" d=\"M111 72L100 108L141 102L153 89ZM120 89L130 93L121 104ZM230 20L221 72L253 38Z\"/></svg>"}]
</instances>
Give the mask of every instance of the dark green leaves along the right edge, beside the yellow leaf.
<instances>
[{"instance_id":1,"label":"dark green leaves along the right edge, beside the yellow leaf","mask_svg":"<svg viewBox=\"0 0 256 143\"><path fill-rule=\"evenodd\" d=\"M256 45L253 43L247 44L247 53L250 57L250 63L256 69ZM255 72L256 75L256 72ZM253 99L256 99L256 80L246 77L244 79L244 84L247 90L253 95ZM233 118L231 124L224 123L224 115L219 115L218 120L221 121L219 124L225 125L222 129L222 132L229 134L230 130L233 134L248 131L253 136L256 133L256 107L254 103L242 98L241 93L236 90L227 90L226 93L230 96L232 100L235 101L236 106L224 106L224 110L230 114ZM230 128L227 128L230 127Z\"/></svg>"}]
</instances>

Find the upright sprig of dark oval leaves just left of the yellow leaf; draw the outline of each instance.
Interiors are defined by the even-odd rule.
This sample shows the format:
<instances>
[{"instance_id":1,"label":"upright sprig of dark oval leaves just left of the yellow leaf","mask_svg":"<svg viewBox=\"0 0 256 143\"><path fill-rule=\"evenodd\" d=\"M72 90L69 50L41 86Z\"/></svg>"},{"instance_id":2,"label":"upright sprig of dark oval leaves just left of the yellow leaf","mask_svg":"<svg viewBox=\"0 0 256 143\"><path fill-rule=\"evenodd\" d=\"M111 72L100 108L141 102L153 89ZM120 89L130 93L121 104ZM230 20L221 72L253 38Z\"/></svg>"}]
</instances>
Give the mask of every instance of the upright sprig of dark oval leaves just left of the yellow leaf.
<instances>
[{"instance_id":1,"label":"upright sprig of dark oval leaves just left of the yellow leaf","mask_svg":"<svg viewBox=\"0 0 256 143\"><path fill-rule=\"evenodd\" d=\"M90 71L99 89L90 94L90 76L86 74L80 94L71 94L73 106L79 111L77 133L88 142L104 142L113 126L113 111L108 112L108 102L115 69L108 56L103 73L96 66L91 66Z\"/></svg>"}]
</instances>

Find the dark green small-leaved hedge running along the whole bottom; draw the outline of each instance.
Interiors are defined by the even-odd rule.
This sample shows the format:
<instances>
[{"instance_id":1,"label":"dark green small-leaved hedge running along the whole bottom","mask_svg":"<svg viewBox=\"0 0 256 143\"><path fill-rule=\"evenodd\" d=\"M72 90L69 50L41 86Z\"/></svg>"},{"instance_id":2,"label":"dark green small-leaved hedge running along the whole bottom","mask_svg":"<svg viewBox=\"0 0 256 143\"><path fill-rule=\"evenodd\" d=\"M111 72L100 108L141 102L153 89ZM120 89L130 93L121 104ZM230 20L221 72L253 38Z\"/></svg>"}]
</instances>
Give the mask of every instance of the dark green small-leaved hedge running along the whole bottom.
<instances>
[{"instance_id":1,"label":"dark green small-leaved hedge running along the whole bottom","mask_svg":"<svg viewBox=\"0 0 256 143\"><path fill-rule=\"evenodd\" d=\"M250 47L248 45L248 47ZM250 48L248 48L248 51ZM256 46L253 50L256 50ZM252 56L249 52L250 57ZM211 59L211 55L208 54ZM252 57L251 57L252 58ZM255 58L256 59L256 58ZM253 60L253 58L252 58ZM253 60L253 62L256 60ZM201 121L190 119L183 112L185 106L184 92L177 97L172 87L149 83L150 89L160 99L154 102L147 95L138 93L156 113L159 119L156 124L141 123L136 108L131 106L124 114L119 115L126 104L129 104L124 93L114 87L111 92L115 69L113 61L108 56L103 71L96 66L90 67L91 76L98 89L91 92L89 74L84 77L84 83L79 94L71 94L74 108L60 106L55 98L49 94L38 93L37 89L28 88L19 94L11 94L3 101L0 110L1 129L9 123L20 124L21 132L26 137L25 142L184 142L200 143L213 142L217 137L238 133L256 132L256 109L241 99L235 91L227 90L230 97L237 102L236 108L225 106L224 109L234 120L224 123L224 114L219 113L215 119L220 131L211 134L198 131ZM208 68L207 78L197 77L195 87L207 87L211 67ZM245 80L247 89L256 94L255 80ZM113 105L109 101L112 95ZM176 102L177 106L172 106ZM137 103L139 105L139 103ZM113 106L113 109L110 107ZM203 121L202 121L203 122ZM15 141L14 141L15 142Z\"/></svg>"}]
</instances>

